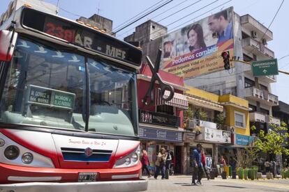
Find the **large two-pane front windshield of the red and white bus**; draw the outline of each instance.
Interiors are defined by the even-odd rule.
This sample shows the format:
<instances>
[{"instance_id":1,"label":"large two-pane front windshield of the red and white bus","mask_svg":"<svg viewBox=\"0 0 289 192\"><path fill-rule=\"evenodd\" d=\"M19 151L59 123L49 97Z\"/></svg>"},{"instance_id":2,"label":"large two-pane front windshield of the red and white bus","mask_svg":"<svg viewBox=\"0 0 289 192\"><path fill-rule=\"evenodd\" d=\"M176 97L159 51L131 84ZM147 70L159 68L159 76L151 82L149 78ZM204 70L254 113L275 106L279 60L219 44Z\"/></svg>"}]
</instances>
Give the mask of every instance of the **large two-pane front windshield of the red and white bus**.
<instances>
[{"instance_id":1,"label":"large two-pane front windshield of the red and white bus","mask_svg":"<svg viewBox=\"0 0 289 192\"><path fill-rule=\"evenodd\" d=\"M135 72L26 38L8 65L1 122L135 136Z\"/></svg>"}]
</instances>

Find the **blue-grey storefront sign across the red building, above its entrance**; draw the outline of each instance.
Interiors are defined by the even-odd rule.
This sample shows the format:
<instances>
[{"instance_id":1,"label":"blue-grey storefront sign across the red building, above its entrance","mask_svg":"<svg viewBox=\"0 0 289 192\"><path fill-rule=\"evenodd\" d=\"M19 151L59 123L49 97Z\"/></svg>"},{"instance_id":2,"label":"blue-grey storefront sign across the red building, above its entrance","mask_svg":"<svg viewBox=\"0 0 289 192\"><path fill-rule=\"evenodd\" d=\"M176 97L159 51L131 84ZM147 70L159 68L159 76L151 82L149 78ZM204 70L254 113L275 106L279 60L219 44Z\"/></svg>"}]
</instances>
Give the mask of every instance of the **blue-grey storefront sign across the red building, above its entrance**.
<instances>
[{"instance_id":1,"label":"blue-grey storefront sign across the red building, above its entrance","mask_svg":"<svg viewBox=\"0 0 289 192\"><path fill-rule=\"evenodd\" d=\"M182 142L183 133L181 131L171 131L166 129L154 129L150 127L139 127L140 138L160 140L160 141L172 141Z\"/></svg>"}]
</instances>

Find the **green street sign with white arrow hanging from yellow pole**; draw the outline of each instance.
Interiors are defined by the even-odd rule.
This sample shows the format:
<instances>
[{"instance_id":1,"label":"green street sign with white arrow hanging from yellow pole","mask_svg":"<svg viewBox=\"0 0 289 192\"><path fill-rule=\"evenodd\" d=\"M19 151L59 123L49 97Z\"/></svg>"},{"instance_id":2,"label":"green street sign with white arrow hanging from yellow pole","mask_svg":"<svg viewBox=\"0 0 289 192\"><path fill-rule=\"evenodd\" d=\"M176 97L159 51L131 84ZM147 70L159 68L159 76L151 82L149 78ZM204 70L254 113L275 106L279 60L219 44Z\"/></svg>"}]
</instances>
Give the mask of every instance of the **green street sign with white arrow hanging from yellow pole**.
<instances>
[{"instance_id":1,"label":"green street sign with white arrow hanging from yellow pole","mask_svg":"<svg viewBox=\"0 0 289 192\"><path fill-rule=\"evenodd\" d=\"M267 76L278 74L277 59L268 59L252 62L253 76Z\"/></svg>"}]
</instances>

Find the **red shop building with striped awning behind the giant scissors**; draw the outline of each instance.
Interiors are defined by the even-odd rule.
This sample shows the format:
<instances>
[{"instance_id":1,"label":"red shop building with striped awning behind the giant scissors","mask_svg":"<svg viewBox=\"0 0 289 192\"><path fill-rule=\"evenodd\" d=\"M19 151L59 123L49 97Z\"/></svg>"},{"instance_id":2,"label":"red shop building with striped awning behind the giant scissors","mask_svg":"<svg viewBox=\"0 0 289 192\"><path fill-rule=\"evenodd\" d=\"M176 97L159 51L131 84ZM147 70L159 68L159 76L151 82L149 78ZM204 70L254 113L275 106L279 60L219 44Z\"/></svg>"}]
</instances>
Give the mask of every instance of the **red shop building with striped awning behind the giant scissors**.
<instances>
[{"instance_id":1,"label":"red shop building with striped awning behind the giant scissors","mask_svg":"<svg viewBox=\"0 0 289 192\"><path fill-rule=\"evenodd\" d=\"M138 74L139 133L142 150L147 150L152 170L161 147L170 150L174 154L172 162L175 173L185 173L183 111L188 109L188 102L183 95L186 90L184 80L167 72L159 71L159 74L165 83L175 88L175 94L169 102L165 102L159 84L156 83L150 95L152 100L149 105L142 102L151 83L152 74L149 66L143 65Z\"/></svg>"}]
</instances>

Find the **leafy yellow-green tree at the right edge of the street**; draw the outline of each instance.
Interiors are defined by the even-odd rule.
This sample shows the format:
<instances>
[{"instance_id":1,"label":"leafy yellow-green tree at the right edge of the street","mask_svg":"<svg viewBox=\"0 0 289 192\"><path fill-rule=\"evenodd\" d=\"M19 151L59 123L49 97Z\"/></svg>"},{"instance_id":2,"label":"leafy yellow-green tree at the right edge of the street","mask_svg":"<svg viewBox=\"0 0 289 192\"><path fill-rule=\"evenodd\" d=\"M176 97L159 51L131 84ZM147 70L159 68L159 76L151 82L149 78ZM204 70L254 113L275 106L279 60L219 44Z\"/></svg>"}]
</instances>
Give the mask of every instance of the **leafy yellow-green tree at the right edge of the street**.
<instances>
[{"instance_id":1,"label":"leafy yellow-green tree at the right edge of the street","mask_svg":"<svg viewBox=\"0 0 289 192\"><path fill-rule=\"evenodd\" d=\"M267 134L265 131L260 130L260 137L255 142L255 146L261 152L269 155L286 154L289 155L289 150L286 148L288 145L289 134L285 122L281 122L280 126L270 124L271 129Z\"/></svg>"}]
</instances>

